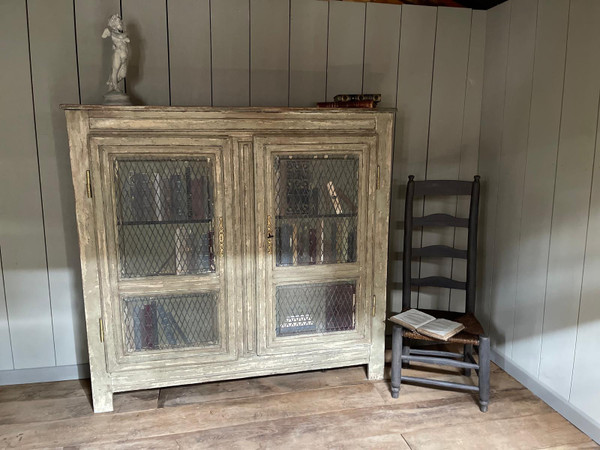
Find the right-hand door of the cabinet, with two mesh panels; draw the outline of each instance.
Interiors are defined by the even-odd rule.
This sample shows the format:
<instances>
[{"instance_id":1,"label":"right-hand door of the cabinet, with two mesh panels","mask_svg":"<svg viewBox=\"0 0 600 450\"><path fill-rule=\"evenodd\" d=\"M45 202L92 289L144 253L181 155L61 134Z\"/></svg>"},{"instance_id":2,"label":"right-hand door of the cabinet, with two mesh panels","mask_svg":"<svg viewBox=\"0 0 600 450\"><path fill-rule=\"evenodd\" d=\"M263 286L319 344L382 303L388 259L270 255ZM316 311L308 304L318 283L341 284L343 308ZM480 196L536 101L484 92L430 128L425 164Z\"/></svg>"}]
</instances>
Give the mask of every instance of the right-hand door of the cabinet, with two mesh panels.
<instances>
[{"instance_id":1,"label":"right-hand door of the cabinet, with two mesh panels","mask_svg":"<svg viewBox=\"0 0 600 450\"><path fill-rule=\"evenodd\" d=\"M369 341L375 143L255 140L260 353Z\"/></svg>"}]
</instances>

